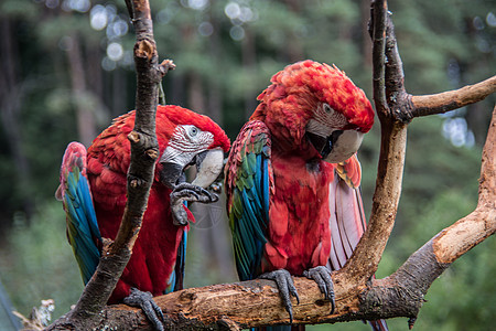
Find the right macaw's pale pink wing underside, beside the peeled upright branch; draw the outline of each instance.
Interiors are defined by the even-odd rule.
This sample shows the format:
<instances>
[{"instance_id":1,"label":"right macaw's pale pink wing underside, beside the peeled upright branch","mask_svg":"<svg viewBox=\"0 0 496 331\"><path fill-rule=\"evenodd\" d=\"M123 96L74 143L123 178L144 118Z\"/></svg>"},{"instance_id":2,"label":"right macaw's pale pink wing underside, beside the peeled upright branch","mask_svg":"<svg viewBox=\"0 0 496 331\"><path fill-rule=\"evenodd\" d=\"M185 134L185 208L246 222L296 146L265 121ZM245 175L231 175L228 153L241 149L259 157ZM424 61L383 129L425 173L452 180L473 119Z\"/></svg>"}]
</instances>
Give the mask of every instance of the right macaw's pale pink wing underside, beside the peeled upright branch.
<instances>
[{"instance_id":1,"label":"right macaw's pale pink wing underside, beside the peeled upright branch","mask_svg":"<svg viewBox=\"0 0 496 331\"><path fill-rule=\"evenodd\" d=\"M356 154L335 167L330 184L331 270L341 269L352 256L366 228L362 192L362 170Z\"/></svg>"}]
</instances>

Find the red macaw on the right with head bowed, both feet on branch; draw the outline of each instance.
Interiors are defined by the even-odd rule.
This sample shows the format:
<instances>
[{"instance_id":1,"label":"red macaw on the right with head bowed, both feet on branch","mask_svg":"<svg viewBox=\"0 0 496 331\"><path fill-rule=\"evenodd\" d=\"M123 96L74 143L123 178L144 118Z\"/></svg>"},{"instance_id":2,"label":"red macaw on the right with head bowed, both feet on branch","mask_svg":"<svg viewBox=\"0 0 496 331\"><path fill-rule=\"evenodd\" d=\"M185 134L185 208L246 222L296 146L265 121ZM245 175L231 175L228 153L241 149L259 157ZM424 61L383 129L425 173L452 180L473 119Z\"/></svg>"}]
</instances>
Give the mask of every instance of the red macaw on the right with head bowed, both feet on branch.
<instances>
[{"instance_id":1,"label":"red macaw on the right with head bowed, both feet on branch","mask_svg":"<svg viewBox=\"0 0 496 331\"><path fill-rule=\"evenodd\" d=\"M291 275L332 301L366 226L356 151L374 124L364 92L337 67L303 61L272 76L225 167L227 212L241 280L276 280L292 321Z\"/></svg>"}]
</instances>

